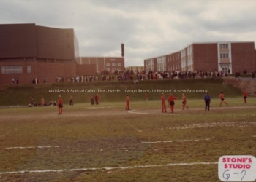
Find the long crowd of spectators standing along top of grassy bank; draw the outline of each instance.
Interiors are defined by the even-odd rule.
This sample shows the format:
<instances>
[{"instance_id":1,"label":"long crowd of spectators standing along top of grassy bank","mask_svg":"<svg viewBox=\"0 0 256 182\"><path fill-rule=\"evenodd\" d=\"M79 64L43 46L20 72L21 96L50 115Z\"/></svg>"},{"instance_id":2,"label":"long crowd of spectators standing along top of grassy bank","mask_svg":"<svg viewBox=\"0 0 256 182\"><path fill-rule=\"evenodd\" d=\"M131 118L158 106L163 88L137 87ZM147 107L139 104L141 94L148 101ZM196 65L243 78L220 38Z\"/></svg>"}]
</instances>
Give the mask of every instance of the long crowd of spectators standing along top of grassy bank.
<instances>
[{"instance_id":1,"label":"long crowd of spectators standing along top of grassy bank","mask_svg":"<svg viewBox=\"0 0 256 182\"><path fill-rule=\"evenodd\" d=\"M252 78L255 78L256 71L252 71ZM108 71L101 71L91 76L59 76L56 82L98 82L98 81L126 81L126 80L157 80L157 79L198 79L198 78L217 78L229 74L228 71L115 71L110 74ZM240 73L236 72L235 77ZM43 82L46 83L46 77ZM38 84L39 78L32 79L33 84Z\"/></svg>"}]
</instances>

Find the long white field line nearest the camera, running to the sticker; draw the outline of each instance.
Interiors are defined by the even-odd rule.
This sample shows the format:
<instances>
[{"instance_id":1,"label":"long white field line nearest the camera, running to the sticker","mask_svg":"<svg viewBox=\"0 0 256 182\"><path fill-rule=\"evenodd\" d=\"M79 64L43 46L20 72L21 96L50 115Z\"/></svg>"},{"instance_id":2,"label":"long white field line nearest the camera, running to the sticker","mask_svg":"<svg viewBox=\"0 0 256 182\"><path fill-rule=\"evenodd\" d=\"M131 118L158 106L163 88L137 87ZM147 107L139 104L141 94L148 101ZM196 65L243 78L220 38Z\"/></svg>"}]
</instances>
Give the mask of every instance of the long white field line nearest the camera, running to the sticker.
<instances>
[{"instance_id":1,"label":"long white field line nearest the camera, running to the sticker","mask_svg":"<svg viewBox=\"0 0 256 182\"><path fill-rule=\"evenodd\" d=\"M185 165L217 165L218 162L192 162L192 163L170 163L166 165L137 165L124 167L92 167L92 168L78 168L78 169L64 169L64 170L18 170L0 172L0 175L17 174L17 173L61 173L70 171L86 171L86 170L116 170L116 169L135 169L135 168L149 168L149 167L167 167L167 166L185 166Z\"/></svg>"}]
</instances>

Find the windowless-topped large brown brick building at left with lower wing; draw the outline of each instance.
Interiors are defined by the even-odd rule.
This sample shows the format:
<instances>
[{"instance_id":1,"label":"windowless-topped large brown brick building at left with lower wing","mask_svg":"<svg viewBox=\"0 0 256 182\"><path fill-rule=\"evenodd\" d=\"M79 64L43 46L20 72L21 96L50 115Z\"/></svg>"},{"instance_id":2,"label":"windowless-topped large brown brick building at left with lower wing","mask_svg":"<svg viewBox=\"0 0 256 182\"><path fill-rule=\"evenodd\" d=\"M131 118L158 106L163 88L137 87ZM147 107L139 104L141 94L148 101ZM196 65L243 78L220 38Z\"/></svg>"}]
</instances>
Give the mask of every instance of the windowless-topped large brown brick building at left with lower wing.
<instances>
[{"instance_id":1,"label":"windowless-topped large brown brick building at left with lower wing","mask_svg":"<svg viewBox=\"0 0 256 182\"><path fill-rule=\"evenodd\" d=\"M86 57L80 57L78 39L71 28L34 23L0 25L0 84L9 84L13 78L29 84L34 78L56 82L59 76L92 75L103 68L124 70L123 57L90 59L86 62Z\"/></svg>"}]
</instances>

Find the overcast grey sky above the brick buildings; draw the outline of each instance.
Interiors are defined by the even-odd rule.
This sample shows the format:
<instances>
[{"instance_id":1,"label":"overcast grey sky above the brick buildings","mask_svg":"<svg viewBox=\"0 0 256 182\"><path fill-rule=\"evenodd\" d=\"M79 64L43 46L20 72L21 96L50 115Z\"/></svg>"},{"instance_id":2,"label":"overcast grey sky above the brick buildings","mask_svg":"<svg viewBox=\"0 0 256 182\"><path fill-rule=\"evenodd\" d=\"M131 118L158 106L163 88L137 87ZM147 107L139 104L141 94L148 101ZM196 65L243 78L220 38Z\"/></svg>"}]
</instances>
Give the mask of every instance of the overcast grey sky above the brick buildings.
<instances>
[{"instance_id":1,"label":"overcast grey sky above the brick buildings","mask_svg":"<svg viewBox=\"0 0 256 182\"><path fill-rule=\"evenodd\" d=\"M73 28L80 56L125 66L195 42L256 41L256 0L0 0L0 23Z\"/></svg>"}]
</instances>

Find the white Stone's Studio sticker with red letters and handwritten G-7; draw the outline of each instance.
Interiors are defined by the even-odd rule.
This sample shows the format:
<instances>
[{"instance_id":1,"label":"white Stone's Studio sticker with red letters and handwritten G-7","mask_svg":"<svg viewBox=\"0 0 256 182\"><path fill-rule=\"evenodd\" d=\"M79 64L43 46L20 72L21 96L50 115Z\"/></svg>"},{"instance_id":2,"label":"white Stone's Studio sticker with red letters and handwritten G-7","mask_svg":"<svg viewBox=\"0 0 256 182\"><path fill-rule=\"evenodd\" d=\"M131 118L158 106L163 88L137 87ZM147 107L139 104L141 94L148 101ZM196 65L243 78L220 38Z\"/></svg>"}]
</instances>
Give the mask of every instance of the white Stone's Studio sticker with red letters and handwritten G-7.
<instances>
[{"instance_id":1,"label":"white Stone's Studio sticker with red letters and handwritten G-7","mask_svg":"<svg viewBox=\"0 0 256 182\"><path fill-rule=\"evenodd\" d=\"M255 181L256 158L253 156L222 156L218 175L221 181Z\"/></svg>"}]
</instances>

